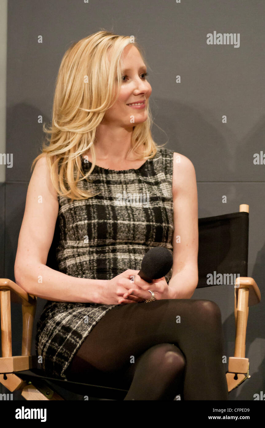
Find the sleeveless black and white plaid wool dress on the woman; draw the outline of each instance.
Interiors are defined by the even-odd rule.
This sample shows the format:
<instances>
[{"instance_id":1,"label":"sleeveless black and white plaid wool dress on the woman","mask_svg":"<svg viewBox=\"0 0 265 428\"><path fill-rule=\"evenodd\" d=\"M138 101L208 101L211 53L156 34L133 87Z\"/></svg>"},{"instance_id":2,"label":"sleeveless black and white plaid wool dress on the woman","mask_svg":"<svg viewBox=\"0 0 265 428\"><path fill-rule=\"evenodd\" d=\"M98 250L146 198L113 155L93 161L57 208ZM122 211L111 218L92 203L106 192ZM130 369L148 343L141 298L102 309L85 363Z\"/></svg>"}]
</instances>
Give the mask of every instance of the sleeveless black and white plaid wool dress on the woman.
<instances>
[{"instance_id":1,"label":"sleeveless black and white plaid wool dress on the woman","mask_svg":"<svg viewBox=\"0 0 265 428\"><path fill-rule=\"evenodd\" d=\"M138 169L115 171L95 166L78 186L101 193L73 202L58 195L56 259L60 272L112 279L126 269L140 270L151 247L173 251L173 153L157 148L156 155ZM90 167L83 159L83 172ZM172 269L165 276L167 283L171 276ZM45 374L67 380L64 372L82 342L115 306L48 300L35 338L36 355L42 357Z\"/></svg>"}]
</instances>

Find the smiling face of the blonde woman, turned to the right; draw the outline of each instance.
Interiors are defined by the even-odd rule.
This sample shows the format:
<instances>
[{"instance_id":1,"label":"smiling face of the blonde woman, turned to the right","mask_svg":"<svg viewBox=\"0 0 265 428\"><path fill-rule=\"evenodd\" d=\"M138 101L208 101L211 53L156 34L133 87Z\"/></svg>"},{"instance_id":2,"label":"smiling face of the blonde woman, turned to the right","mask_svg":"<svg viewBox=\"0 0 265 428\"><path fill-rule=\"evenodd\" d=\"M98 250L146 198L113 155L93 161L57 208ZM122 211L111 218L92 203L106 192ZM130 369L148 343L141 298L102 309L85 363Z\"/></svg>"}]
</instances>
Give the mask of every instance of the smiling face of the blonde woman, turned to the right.
<instances>
[{"instance_id":1,"label":"smiling face of the blonde woman, turned to the right","mask_svg":"<svg viewBox=\"0 0 265 428\"><path fill-rule=\"evenodd\" d=\"M145 122L147 119L146 106L152 92L150 83L146 80L146 65L138 49L130 44L122 53L124 70L119 97L104 116L104 123L117 126L131 126ZM131 103L143 103L139 107Z\"/></svg>"}]
</instances>

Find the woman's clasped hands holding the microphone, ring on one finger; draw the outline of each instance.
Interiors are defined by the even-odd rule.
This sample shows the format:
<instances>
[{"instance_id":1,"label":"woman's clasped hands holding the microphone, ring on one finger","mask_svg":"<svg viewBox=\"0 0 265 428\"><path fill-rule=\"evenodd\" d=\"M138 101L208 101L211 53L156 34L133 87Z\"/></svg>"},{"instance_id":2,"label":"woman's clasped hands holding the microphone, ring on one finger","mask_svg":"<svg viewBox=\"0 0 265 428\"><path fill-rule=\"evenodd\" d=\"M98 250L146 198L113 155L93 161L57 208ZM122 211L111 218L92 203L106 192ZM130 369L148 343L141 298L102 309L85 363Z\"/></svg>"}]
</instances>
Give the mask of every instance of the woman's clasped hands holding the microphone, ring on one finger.
<instances>
[{"instance_id":1,"label":"woman's clasped hands holding the microphone, ring on one finger","mask_svg":"<svg viewBox=\"0 0 265 428\"><path fill-rule=\"evenodd\" d=\"M172 289L168 286L164 276L163 278L153 279L152 282L146 282L137 273L139 273L139 270L135 271L135 274L130 275L134 286L123 294L123 298L119 300L119 303L144 302L151 298L151 293L148 290L154 292L156 300L174 298Z\"/></svg>"}]
</instances>

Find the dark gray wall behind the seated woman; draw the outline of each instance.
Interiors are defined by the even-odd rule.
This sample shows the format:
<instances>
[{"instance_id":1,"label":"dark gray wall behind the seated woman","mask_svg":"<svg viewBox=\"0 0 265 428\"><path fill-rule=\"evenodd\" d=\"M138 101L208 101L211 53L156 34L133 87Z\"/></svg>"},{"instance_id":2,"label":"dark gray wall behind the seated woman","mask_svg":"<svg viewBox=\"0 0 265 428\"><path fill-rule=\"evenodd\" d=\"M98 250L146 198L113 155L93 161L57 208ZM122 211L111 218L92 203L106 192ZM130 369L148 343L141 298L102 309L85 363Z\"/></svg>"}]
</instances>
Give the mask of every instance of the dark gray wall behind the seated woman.
<instances>
[{"instance_id":1,"label":"dark gray wall behind the seated woman","mask_svg":"<svg viewBox=\"0 0 265 428\"><path fill-rule=\"evenodd\" d=\"M265 149L264 15L265 3L259 0L9 0L5 152L13 154L13 166L6 168L6 181L0 184L0 277L15 280L30 165L43 138L38 116L51 119L61 58L71 42L103 28L134 35L143 45L158 125L153 126L154 140L169 140L169 149L194 164L198 217L250 206L248 275L263 294L265 165L254 165L253 155ZM240 46L208 45L207 34L214 31L240 33ZM222 123L223 115L227 123ZM233 287L198 289L192 298L213 300L221 308L228 360L234 347ZM44 304L38 299L36 319ZM14 304L13 355L20 354L20 316L20 306ZM230 393L230 400L253 400L253 394L265 390L264 324L261 302L249 310L251 378Z\"/></svg>"}]
</instances>

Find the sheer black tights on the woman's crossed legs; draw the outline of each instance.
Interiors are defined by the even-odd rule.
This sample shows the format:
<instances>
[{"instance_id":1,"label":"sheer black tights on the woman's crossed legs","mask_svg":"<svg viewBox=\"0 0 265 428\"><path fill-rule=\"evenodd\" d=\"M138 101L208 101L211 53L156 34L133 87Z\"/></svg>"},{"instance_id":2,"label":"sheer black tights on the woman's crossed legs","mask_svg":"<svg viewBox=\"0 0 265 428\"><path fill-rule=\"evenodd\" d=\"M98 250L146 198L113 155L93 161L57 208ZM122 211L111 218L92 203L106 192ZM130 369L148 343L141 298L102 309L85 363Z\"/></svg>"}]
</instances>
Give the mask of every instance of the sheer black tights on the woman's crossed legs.
<instances>
[{"instance_id":1,"label":"sheer black tights on the woman's crossed legs","mask_svg":"<svg viewBox=\"0 0 265 428\"><path fill-rule=\"evenodd\" d=\"M128 389L125 400L228 400L221 312L210 300L117 305L90 331L68 380Z\"/></svg>"}]
</instances>

